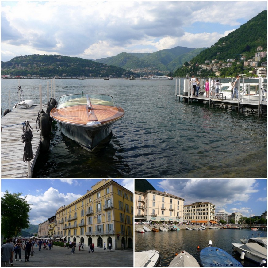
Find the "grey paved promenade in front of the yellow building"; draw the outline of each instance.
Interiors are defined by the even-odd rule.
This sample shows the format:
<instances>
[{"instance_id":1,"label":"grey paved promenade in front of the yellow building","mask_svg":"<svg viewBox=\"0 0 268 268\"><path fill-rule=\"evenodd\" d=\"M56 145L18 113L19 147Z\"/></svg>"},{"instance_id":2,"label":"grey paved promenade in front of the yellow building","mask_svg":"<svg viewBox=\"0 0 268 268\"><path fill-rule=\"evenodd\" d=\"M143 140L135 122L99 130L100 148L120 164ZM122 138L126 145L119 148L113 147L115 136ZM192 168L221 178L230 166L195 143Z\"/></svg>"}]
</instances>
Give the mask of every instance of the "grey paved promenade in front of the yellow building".
<instances>
[{"instance_id":1,"label":"grey paved promenade in front of the yellow building","mask_svg":"<svg viewBox=\"0 0 268 268\"><path fill-rule=\"evenodd\" d=\"M25 251L22 250L21 262L15 261L14 254L13 267L133 267L133 250L109 251L95 247L94 253L88 253L87 248L79 251L76 247L72 254L71 249L59 246L53 246L51 250L43 250L42 247L40 251L34 247L35 254L30 256L29 262L25 262Z\"/></svg>"}]
</instances>

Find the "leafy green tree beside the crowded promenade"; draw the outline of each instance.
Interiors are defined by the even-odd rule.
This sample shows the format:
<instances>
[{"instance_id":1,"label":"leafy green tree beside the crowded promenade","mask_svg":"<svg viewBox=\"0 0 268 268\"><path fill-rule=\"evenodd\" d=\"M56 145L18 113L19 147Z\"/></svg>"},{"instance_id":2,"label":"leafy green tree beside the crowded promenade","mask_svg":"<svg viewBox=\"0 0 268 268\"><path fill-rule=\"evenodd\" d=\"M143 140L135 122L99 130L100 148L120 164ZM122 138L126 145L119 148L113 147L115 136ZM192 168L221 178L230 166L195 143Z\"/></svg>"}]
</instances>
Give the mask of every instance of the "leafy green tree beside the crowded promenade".
<instances>
[{"instance_id":1,"label":"leafy green tree beside the crowded promenade","mask_svg":"<svg viewBox=\"0 0 268 268\"><path fill-rule=\"evenodd\" d=\"M22 193L9 193L7 190L1 197L1 232L5 237L13 237L21 229L29 228L30 204Z\"/></svg>"}]
</instances>

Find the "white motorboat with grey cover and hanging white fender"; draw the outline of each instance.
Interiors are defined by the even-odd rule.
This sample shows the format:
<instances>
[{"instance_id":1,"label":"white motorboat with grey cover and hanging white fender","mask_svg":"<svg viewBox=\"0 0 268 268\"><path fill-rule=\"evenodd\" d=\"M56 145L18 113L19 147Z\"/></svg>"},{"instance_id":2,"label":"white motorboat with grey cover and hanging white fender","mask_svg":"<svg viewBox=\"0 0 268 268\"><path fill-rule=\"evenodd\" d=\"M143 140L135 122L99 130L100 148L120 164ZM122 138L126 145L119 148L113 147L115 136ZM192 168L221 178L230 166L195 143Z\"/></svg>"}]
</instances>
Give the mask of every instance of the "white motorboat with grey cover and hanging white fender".
<instances>
[{"instance_id":1,"label":"white motorboat with grey cover and hanging white fender","mask_svg":"<svg viewBox=\"0 0 268 268\"><path fill-rule=\"evenodd\" d=\"M238 253L241 254L244 252L245 257L254 262L261 263L262 260L265 260L265 262L267 262L267 248L262 247L257 243L232 243L232 245Z\"/></svg>"}]
</instances>

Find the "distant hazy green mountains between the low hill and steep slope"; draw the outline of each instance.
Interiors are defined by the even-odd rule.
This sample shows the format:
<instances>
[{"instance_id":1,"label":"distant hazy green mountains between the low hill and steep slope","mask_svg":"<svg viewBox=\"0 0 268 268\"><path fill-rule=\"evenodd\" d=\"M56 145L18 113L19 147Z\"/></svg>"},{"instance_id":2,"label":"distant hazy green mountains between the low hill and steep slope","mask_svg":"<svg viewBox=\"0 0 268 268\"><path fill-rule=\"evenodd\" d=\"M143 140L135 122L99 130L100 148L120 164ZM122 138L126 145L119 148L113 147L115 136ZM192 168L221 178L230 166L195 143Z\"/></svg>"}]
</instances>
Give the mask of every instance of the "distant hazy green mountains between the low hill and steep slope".
<instances>
[{"instance_id":1,"label":"distant hazy green mountains between the low hill and steep slope","mask_svg":"<svg viewBox=\"0 0 268 268\"><path fill-rule=\"evenodd\" d=\"M96 59L96 61L127 70L135 70L140 73L155 71L156 74L163 74L165 72L175 71L178 67L182 66L185 61L190 61L204 49L206 48L175 47L153 53L122 52L116 56Z\"/></svg>"}]
</instances>

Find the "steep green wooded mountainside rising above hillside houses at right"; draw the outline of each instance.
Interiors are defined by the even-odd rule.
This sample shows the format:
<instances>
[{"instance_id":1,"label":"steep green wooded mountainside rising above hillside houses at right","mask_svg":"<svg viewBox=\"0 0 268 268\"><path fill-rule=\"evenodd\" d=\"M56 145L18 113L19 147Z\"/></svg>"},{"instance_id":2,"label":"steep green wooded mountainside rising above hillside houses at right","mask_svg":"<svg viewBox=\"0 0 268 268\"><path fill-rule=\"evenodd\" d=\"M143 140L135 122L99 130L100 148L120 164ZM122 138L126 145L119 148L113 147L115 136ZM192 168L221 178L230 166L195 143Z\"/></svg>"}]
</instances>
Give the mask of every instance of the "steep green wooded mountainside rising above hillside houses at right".
<instances>
[{"instance_id":1,"label":"steep green wooded mountainside rising above hillside houses at right","mask_svg":"<svg viewBox=\"0 0 268 268\"><path fill-rule=\"evenodd\" d=\"M245 56L246 60L252 59L259 46L267 51L267 10L262 11L227 36L220 38L210 48L201 51L191 59L190 67L178 68L173 76L185 77L186 74L197 75L199 65L205 64L205 61L211 62L212 60L216 60L218 63L219 61L227 62L228 59L236 59L229 76L243 73L244 67L243 61L242 63L240 62L241 56ZM236 64L238 61L240 64ZM208 72L201 73L203 77L211 75L215 76L213 72L210 74Z\"/></svg>"}]
</instances>

